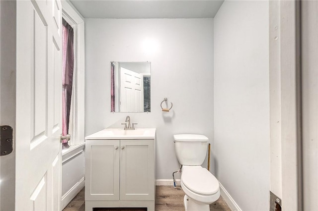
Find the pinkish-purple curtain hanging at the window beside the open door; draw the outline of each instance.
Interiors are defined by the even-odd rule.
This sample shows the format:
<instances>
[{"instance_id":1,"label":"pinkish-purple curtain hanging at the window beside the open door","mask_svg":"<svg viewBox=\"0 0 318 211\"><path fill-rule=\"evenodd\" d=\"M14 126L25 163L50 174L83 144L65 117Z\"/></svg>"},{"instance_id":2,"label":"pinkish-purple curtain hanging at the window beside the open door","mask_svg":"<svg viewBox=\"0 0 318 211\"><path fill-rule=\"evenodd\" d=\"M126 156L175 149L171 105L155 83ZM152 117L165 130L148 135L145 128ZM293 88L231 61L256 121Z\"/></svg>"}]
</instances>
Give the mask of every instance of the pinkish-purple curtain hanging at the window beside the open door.
<instances>
[{"instance_id":1,"label":"pinkish-purple curtain hanging at the window beside the open door","mask_svg":"<svg viewBox=\"0 0 318 211\"><path fill-rule=\"evenodd\" d=\"M63 21L63 116L62 116L62 134L65 136L69 133L71 98L73 87L73 70L74 70L74 32L73 28L64 20ZM69 147L66 140L63 140L63 147Z\"/></svg>"}]
</instances>

